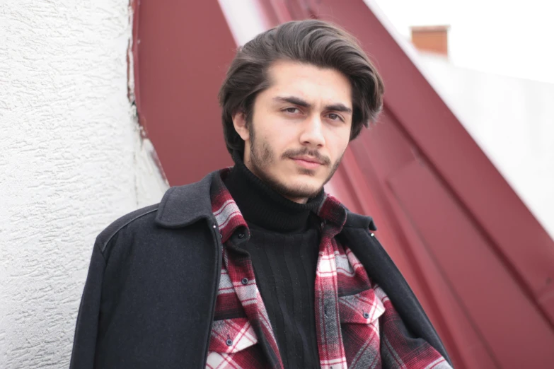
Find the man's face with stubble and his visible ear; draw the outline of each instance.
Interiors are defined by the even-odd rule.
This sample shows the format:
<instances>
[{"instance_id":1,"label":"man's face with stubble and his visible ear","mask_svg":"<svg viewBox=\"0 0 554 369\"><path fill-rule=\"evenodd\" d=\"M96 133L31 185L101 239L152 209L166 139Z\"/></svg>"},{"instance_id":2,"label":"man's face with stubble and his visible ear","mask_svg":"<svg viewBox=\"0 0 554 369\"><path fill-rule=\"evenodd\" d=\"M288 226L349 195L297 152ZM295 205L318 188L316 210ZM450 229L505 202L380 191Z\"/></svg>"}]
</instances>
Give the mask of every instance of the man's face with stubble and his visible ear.
<instances>
[{"instance_id":1,"label":"man's face with stubble and his visible ear","mask_svg":"<svg viewBox=\"0 0 554 369\"><path fill-rule=\"evenodd\" d=\"M249 122L233 117L244 163L284 197L305 203L333 176L350 141L352 87L335 69L294 61L272 64L269 80Z\"/></svg>"}]
</instances>

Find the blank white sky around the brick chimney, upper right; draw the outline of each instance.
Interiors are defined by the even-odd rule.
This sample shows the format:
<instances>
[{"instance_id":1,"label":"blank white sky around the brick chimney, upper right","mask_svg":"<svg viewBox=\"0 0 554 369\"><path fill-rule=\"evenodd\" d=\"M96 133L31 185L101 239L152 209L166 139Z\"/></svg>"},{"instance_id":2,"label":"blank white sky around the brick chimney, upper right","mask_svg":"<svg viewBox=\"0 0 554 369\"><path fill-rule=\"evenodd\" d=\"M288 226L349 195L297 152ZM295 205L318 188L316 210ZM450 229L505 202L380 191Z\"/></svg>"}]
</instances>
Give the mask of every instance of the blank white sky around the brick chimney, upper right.
<instances>
[{"instance_id":1,"label":"blank white sky around the brick chimney, upper right","mask_svg":"<svg viewBox=\"0 0 554 369\"><path fill-rule=\"evenodd\" d=\"M450 25L456 66L554 83L554 1L365 1L407 39L410 25Z\"/></svg>"}]
</instances>

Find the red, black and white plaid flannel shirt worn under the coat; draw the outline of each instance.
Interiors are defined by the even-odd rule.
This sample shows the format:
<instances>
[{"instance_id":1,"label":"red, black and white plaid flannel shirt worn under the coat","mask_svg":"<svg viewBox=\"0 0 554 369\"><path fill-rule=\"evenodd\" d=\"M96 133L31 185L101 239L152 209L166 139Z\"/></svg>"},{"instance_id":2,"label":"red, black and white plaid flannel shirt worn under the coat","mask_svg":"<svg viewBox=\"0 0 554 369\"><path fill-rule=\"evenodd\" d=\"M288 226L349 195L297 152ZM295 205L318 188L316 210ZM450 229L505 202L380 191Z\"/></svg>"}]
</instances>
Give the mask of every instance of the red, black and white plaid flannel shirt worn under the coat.
<instances>
[{"instance_id":1,"label":"red, black and white plaid flannel shirt worn under the coat","mask_svg":"<svg viewBox=\"0 0 554 369\"><path fill-rule=\"evenodd\" d=\"M221 170L225 176L229 169ZM254 269L237 238L248 225L217 177L212 211L223 246L221 279L207 368L283 368L275 334L256 286ZM327 195L316 270L316 336L322 369L446 369L449 363L427 341L410 336L386 293L372 283L352 251L337 241L346 211Z\"/></svg>"}]
</instances>

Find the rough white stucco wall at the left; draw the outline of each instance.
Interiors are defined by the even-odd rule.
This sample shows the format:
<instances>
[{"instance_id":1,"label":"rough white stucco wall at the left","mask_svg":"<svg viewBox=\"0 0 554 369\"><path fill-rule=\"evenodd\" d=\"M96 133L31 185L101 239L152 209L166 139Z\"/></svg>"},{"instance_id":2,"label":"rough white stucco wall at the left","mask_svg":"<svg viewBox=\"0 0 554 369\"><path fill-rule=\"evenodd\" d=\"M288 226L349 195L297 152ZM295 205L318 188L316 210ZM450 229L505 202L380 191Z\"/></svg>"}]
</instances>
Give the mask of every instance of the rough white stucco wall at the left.
<instances>
[{"instance_id":1,"label":"rough white stucco wall at the left","mask_svg":"<svg viewBox=\"0 0 554 369\"><path fill-rule=\"evenodd\" d=\"M127 99L129 0L0 5L0 368L67 368L96 235L166 182Z\"/></svg>"}]
</instances>

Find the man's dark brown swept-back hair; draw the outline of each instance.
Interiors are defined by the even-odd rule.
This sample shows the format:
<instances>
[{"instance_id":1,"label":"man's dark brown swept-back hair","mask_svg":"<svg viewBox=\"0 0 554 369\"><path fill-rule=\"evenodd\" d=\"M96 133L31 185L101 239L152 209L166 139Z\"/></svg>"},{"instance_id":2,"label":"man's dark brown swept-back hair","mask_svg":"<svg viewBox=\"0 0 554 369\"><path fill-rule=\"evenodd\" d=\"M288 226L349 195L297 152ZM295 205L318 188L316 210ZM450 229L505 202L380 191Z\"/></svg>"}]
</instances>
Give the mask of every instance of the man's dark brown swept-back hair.
<instances>
[{"instance_id":1,"label":"man's dark brown swept-back hair","mask_svg":"<svg viewBox=\"0 0 554 369\"><path fill-rule=\"evenodd\" d=\"M269 87L267 69L277 60L291 60L340 71L352 85L352 129L374 122L383 106L383 81L357 40L332 23L292 21L250 40L236 53L221 89L223 131L229 153L243 153L244 141L233 127L233 114L243 112L250 122L255 97Z\"/></svg>"}]
</instances>

